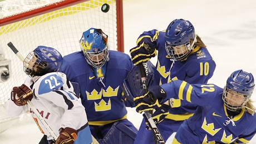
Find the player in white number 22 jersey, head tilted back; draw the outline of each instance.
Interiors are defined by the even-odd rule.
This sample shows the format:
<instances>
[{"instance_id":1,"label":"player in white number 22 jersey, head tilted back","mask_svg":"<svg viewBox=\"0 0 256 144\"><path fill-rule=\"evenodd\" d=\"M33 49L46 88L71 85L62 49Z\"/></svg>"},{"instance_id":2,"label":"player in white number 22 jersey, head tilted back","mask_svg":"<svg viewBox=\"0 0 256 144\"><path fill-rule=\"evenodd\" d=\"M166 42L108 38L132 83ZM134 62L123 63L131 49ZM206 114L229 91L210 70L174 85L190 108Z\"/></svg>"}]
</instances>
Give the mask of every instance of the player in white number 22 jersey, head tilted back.
<instances>
[{"instance_id":1,"label":"player in white number 22 jersey, head tilted back","mask_svg":"<svg viewBox=\"0 0 256 144\"><path fill-rule=\"evenodd\" d=\"M38 46L23 61L24 72L29 76L19 87L13 87L8 112L18 116L31 101L40 115L58 136L53 136L38 121L35 112L31 115L45 135L40 143L91 143L85 108L76 96L73 86L64 73L57 72L62 65L62 56L54 48Z\"/></svg>"}]
</instances>

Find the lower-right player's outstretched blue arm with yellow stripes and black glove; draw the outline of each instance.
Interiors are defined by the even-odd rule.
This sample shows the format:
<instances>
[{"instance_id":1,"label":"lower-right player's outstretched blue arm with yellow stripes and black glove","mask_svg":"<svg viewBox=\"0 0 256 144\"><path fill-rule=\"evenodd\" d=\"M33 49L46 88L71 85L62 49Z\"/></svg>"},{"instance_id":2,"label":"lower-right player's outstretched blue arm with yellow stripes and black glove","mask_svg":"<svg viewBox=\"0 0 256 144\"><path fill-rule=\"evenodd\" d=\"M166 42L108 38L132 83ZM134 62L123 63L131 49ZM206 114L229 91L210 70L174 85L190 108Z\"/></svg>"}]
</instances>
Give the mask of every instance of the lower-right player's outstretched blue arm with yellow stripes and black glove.
<instances>
[{"instance_id":1,"label":"lower-right player's outstretched blue arm with yellow stripes and black glove","mask_svg":"<svg viewBox=\"0 0 256 144\"><path fill-rule=\"evenodd\" d=\"M216 92L215 85L190 85L185 81L172 81L161 86L154 86L150 88L143 96L134 98L136 104L136 111L141 113L143 111L153 110L158 103L165 103L171 107L179 107L180 100L194 103L198 106L207 106L213 101Z\"/></svg>"}]
</instances>

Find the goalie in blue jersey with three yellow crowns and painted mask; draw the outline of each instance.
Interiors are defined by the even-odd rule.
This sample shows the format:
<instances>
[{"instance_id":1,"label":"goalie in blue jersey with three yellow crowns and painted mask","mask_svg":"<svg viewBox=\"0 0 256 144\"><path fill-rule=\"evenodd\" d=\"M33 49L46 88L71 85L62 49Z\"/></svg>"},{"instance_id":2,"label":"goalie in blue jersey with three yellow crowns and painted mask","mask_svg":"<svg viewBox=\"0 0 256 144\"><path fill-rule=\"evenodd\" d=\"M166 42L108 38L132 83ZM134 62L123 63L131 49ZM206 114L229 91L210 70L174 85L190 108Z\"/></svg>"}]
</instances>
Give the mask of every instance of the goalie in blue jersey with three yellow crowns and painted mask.
<instances>
[{"instance_id":1,"label":"goalie in blue jersey with three yellow crowns and painted mask","mask_svg":"<svg viewBox=\"0 0 256 144\"><path fill-rule=\"evenodd\" d=\"M82 104L92 135L100 143L133 144L137 129L127 120L127 107L120 85L133 64L130 57L110 51L108 36L90 28L80 39L81 51L63 57L61 71L80 86Z\"/></svg>"}]
</instances>

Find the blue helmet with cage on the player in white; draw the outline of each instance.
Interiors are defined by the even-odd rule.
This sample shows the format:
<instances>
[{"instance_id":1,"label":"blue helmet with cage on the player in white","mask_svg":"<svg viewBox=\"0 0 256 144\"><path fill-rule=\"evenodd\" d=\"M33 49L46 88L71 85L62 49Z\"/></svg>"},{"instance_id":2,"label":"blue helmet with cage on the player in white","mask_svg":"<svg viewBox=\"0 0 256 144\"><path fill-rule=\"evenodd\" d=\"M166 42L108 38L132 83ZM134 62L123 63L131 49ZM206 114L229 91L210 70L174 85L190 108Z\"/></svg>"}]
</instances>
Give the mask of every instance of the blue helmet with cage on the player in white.
<instances>
[{"instance_id":1,"label":"blue helmet with cage on the player in white","mask_svg":"<svg viewBox=\"0 0 256 144\"><path fill-rule=\"evenodd\" d=\"M24 72L29 76L43 76L56 72L62 64L62 56L55 48L38 46L23 61Z\"/></svg>"}]
</instances>

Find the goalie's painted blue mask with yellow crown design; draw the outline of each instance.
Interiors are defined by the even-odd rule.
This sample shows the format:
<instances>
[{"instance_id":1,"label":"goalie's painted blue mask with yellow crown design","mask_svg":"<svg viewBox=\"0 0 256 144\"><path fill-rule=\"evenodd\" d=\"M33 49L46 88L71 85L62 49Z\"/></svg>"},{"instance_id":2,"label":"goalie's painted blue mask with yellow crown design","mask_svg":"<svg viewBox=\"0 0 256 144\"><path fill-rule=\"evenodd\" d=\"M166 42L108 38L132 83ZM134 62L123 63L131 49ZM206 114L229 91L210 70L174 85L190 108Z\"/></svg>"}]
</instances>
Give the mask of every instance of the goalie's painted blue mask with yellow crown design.
<instances>
[{"instance_id":1,"label":"goalie's painted blue mask with yellow crown design","mask_svg":"<svg viewBox=\"0 0 256 144\"><path fill-rule=\"evenodd\" d=\"M88 64L95 68L100 68L109 61L107 35L101 29L90 28L83 32L80 47Z\"/></svg>"}]
</instances>

